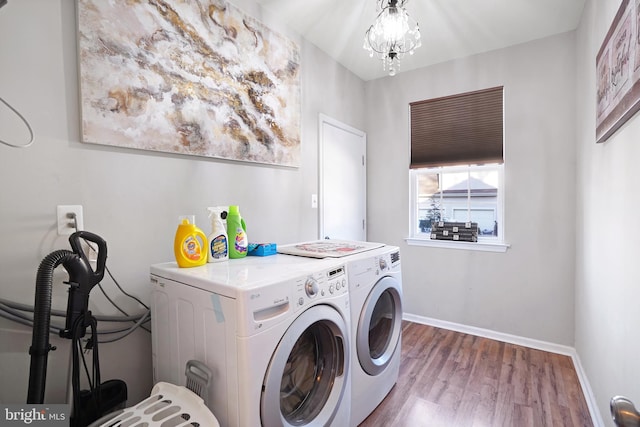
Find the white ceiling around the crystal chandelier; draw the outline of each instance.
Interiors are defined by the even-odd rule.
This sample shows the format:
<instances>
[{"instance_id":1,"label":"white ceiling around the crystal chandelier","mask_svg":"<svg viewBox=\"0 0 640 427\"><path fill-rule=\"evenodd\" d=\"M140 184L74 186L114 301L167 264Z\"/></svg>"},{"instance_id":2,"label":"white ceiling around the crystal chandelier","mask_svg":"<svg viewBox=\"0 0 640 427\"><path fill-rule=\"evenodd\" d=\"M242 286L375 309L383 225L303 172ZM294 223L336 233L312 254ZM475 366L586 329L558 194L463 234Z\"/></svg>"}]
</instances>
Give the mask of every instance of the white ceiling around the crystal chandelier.
<instances>
[{"instance_id":1,"label":"white ceiling around the crystal chandelier","mask_svg":"<svg viewBox=\"0 0 640 427\"><path fill-rule=\"evenodd\" d=\"M376 0L257 0L363 80L387 75L362 48ZM422 47L400 72L574 30L585 0L409 0ZM385 1L386 3L386 1Z\"/></svg>"}]
</instances>

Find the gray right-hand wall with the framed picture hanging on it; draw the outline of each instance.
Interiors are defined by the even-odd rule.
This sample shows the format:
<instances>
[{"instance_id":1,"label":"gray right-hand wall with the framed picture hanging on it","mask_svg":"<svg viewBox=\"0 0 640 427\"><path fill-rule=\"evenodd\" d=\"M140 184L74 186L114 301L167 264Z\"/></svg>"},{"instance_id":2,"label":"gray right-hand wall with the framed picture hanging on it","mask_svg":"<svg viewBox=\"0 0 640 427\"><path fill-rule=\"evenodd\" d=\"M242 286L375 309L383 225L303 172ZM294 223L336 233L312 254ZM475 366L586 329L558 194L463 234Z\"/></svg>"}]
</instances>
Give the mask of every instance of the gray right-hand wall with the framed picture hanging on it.
<instances>
[{"instance_id":1,"label":"gray right-hand wall with the framed picture hanging on it","mask_svg":"<svg viewBox=\"0 0 640 427\"><path fill-rule=\"evenodd\" d=\"M600 412L626 395L640 404L640 120L595 143L595 58L620 6L587 0L577 31L577 252L575 346Z\"/></svg>"}]
</instances>

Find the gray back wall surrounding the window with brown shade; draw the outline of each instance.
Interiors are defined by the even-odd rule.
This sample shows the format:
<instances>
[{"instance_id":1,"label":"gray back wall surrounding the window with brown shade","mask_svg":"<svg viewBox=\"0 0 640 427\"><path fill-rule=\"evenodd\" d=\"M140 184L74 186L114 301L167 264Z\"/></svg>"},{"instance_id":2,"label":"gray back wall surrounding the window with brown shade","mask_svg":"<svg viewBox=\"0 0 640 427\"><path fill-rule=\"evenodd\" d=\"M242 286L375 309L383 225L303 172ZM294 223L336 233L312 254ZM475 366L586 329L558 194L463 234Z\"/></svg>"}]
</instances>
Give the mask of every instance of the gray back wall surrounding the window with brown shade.
<instances>
[{"instance_id":1,"label":"gray back wall surrounding the window with brown shade","mask_svg":"<svg viewBox=\"0 0 640 427\"><path fill-rule=\"evenodd\" d=\"M574 70L572 32L367 83L368 237L401 247L406 313L573 344ZM408 246L408 103L495 86L511 247Z\"/></svg>"}]
</instances>

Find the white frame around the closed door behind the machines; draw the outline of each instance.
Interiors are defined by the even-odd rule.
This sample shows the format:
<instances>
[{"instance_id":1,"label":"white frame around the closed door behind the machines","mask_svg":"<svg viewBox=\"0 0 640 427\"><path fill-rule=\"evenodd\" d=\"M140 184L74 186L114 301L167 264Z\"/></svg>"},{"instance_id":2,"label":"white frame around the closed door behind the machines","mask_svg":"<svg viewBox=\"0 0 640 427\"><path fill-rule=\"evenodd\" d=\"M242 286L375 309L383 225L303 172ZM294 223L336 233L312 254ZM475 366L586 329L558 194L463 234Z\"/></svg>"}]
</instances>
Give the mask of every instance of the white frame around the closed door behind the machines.
<instances>
[{"instance_id":1,"label":"white frame around the closed door behind the machines","mask_svg":"<svg viewBox=\"0 0 640 427\"><path fill-rule=\"evenodd\" d=\"M325 194L325 189L324 189L324 175L325 173L329 173L330 171L327 169L325 170L325 167L328 167L328 162L325 161L324 159L324 146L325 146L325 140L324 140L324 125L325 124L329 124L331 126L334 126L338 129L341 129L345 132L349 132L352 133L356 136L359 136L363 139L364 141L364 146L365 146L365 153L363 154L362 157L362 173L364 174L364 183L365 183L365 188L364 188L364 218L363 218L363 231L364 231L364 239L363 240L367 240L367 224L366 224L366 218L367 218L367 162L366 162L366 147L367 147L367 134L364 131L361 131L359 129L356 129L352 126L349 126L345 123L342 123L339 120L336 120L334 118L331 118L329 116L327 116L326 114L320 113L318 115L318 238L319 239L324 239L325 237L325 230L324 230L324 209L325 209L325 200L324 200L324 194Z\"/></svg>"}]
</instances>

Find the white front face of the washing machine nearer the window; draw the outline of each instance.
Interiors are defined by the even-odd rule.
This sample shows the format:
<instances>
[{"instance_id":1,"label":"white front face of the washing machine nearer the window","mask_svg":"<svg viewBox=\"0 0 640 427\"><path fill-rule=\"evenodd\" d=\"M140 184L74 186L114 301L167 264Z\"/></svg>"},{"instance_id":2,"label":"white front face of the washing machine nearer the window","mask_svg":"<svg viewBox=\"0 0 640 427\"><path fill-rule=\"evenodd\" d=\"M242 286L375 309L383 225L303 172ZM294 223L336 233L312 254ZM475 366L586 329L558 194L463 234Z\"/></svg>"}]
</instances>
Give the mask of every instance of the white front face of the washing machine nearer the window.
<instances>
[{"instance_id":1,"label":"white front face of the washing machine nearer the window","mask_svg":"<svg viewBox=\"0 0 640 427\"><path fill-rule=\"evenodd\" d=\"M402 274L400 250L383 246L344 258L351 299L351 422L364 421L400 372Z\"/></svg>"}]
</instances>

